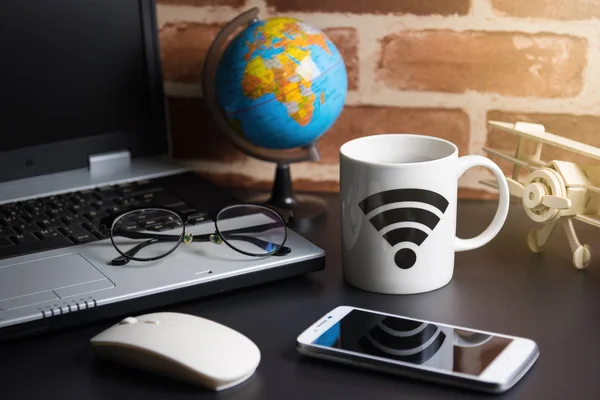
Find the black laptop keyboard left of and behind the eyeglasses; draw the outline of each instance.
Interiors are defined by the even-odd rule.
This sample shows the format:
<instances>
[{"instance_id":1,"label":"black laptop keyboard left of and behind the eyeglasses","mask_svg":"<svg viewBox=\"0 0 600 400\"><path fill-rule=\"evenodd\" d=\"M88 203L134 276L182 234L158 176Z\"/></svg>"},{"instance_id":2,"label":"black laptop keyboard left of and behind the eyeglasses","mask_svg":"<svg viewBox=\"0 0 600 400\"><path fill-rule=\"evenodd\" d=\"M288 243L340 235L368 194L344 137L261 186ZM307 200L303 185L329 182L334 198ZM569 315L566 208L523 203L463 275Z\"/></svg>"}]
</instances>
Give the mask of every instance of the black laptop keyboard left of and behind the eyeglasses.
<instances>
[{"instance_id":1,"label":"black laptop keyboard left of and behind the eyeglasses","mask_svg":"<svg viewBox=\"0 0 600 400\"><path fill-rule=\"evenodd\" d=\"M101 218L146 205L197 212L151 180L2 204L0 259L106 239Z\"/></svg>"}]
</instances>

